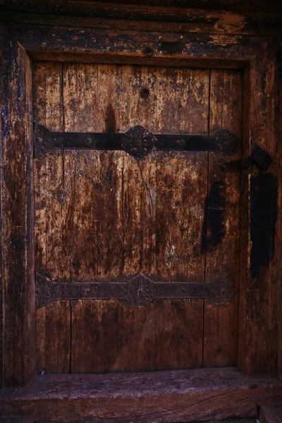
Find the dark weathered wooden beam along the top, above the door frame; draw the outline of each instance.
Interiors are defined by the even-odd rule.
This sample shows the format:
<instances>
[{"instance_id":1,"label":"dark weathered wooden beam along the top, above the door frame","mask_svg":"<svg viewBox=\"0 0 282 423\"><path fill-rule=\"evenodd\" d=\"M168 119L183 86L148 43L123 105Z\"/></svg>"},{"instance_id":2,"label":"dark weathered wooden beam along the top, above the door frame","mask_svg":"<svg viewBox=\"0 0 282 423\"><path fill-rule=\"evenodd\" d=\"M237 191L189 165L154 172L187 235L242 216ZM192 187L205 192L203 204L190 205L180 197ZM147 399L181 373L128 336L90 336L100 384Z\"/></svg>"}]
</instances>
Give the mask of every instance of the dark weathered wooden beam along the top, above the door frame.
<instances>
[{"instance_id":1,"label":"dark weathered wooden beam along the top, above the door frame","mask_svg":"<svg viewBox=\"0 0 282 423\"><path fill-rule=\"evenodd\" d=\"M121 8L122 10L122 8ZM126 13L133 14L132 8L127 8L121 16L111 17L111 13L104 18L96 16L83 16L84 9L78 5L77 14L28 13L25 11L3 11L1 22L28 23L40 25L60 25L74 27L97 27L118 30L145 30L160 32L197 32L210 34L239 34L250 35L273 34L281 27L282 13L252 13L251 15L232 13L226 11L198 11L185 9L183 18L179 10L164 13L164 9L133 16L133 20L125 18ZM89 8L87 8L89 11ZM164 25L164 22L166 25Z\"/></svg>"}]
</instances>

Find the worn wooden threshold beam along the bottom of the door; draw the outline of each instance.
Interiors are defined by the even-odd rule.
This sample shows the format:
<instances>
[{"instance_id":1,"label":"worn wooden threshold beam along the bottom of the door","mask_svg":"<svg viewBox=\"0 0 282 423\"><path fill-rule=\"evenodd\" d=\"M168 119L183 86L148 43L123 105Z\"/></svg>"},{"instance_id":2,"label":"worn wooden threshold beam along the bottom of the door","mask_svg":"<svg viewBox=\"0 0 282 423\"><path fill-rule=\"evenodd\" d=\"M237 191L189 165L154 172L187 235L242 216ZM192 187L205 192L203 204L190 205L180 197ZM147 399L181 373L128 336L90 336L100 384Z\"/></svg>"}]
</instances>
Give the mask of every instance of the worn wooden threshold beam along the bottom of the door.
<instances>
[{"instance_id":1,"label":"worn wooden threshold beam along the bottom of the door","mask_svg":"<svg viewBox=\"0 0 282 423\"><path fill-rule=\"evenodd\" d=\"M36 422L191 422L257 417L282 404L282 381L237 368L127 374L44 374L0 394L0 417Z\"/></svg>"}]
</instances>

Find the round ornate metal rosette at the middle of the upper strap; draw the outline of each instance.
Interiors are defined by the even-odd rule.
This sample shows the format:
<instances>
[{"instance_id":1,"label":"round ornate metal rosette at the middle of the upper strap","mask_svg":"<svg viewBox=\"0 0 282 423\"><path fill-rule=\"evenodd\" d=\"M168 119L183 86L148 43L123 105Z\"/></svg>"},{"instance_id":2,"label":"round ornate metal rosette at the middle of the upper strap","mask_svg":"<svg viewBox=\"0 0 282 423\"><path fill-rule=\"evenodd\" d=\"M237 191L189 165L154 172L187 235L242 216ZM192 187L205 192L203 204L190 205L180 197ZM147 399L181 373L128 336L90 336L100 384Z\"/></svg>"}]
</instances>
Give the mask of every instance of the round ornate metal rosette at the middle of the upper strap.
<instances>
[{"instance_id":1,"label":"round ornate metal rosette at the middle of the upper strap","mask_svg":"<svg viewBox=\"0 0 282 423\"><path fill-rule=\"evenodd\" d=\"M121 138L121 146L136 160L142 159L157 144L157 137L141 125L128 130Z\"/></svg>"}]
</instances>

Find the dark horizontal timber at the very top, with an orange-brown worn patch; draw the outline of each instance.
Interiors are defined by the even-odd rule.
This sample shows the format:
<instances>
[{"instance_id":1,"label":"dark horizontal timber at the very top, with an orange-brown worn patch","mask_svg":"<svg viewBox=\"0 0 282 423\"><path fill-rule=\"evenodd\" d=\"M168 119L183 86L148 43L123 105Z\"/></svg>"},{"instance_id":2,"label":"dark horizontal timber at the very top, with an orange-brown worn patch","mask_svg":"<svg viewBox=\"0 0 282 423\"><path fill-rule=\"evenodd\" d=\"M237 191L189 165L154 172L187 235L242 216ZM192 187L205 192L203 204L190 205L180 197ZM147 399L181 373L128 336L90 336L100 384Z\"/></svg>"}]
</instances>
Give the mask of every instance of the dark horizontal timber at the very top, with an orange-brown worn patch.
<instances>
[{"instance_id":1,"label":"dark horizontal timber at the very top, with an orange-brown worn patch","mask_svg":"<svg viewBox=\"0 0 282 423\"><path fill-rule=\"evenodd\" d=\"M193 7L185 2L185 7L176 7L173 4L165 7L164 4L154 6L135 4L102 4L94 1L6 1L0 2L1 20L10 22L42 23L44 25L69 26L97 26L114 27L119 29L154 30L157 23L165 22L167 30L180 32L230 32L230 33L259 33L273 32L281 27L281 12L269 8L268 13L259 11L256 6L252 11L209 10L211 2L205 2L204 8ZM245 2L247 4L247 2ZM194 6L197 6L196 4ZM130 19L128 19L130 17ZM76 21L74 20L76 18ZM168 25L168 26L167 26Z\"/></svg>"}]
</instances>

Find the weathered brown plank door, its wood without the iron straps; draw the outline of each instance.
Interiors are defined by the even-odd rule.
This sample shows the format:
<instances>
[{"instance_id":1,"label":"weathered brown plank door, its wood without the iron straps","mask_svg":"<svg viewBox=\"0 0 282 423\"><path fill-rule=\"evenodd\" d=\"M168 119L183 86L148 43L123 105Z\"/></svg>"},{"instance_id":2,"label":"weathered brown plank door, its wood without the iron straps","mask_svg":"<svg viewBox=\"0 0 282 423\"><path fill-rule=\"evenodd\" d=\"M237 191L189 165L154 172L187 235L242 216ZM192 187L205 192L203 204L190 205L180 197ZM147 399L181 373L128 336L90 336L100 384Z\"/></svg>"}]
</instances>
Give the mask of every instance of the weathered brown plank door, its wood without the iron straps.
<instances>
[{"instance_id":1,"label":"weathered brown plank door, its wood without the iron straps","mask_svg":"<svg viewBox=\"0 0 282 423\"><path fill-rule=\"evenodd\" d=\"M35 121L51 131L240 137L240 71L38 62ZM238 288L240 159L214 152L54 149L35 159L35 273L51 283ZM71 289L71 288L70 288ZM235 291L234 291L235 292ZM119 372L237 364L238 295L143 307L63 299L37 309L37 367Z\"/></svg>"}]
</instances>

